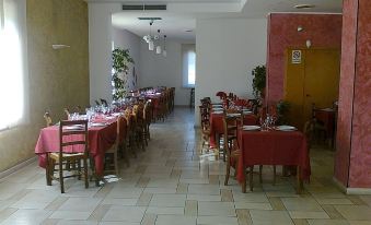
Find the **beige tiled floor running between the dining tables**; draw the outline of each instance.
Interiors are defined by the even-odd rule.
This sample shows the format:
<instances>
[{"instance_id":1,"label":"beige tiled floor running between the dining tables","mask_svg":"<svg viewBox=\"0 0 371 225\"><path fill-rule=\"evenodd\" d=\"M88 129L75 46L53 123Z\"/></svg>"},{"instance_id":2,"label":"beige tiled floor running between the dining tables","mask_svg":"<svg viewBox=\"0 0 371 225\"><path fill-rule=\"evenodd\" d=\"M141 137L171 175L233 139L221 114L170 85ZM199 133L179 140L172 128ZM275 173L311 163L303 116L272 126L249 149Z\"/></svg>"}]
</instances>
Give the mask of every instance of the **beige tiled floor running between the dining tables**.
<instances>
[{"instance_id":1,"label":"beige tiled floor running between the dining tables","mask_svg":"<svg viewBox=\"0 0 371 225\"><path fill-rule=\"evenodd\" d=\"M232 178L223 186L224 164L199 154L193 111L176 108L151 126L146 152L121 163L120 179L84 189L82 181L45 185L36 163L0 181L1 224L102 225L367 225L371 197L345 196L332 183L333 152L312 149L311 183L298 196L294 178L264 167L263 185L242 193Z\"/></svg>"}]
</instances>

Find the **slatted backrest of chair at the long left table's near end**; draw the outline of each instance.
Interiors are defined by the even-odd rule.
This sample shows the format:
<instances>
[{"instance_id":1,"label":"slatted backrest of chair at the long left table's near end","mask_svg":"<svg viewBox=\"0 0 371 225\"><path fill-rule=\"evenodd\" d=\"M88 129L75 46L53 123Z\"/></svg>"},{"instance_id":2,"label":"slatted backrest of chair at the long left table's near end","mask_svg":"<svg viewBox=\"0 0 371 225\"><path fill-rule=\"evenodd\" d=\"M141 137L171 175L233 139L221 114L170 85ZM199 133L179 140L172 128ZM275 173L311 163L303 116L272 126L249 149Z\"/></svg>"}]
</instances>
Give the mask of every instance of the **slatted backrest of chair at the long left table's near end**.
<instances>
[{"instance_id":1,"label":"slatted backrest of chair at the long left table's near end","mask_svg":"<svg viewBox=\"0 0 371 225\"><path fill-rule=\"evenodd\" d=\"M59 156L62 153L88 155L88 120L61 120L59 125Z\"/></svg>"}]
</instances>

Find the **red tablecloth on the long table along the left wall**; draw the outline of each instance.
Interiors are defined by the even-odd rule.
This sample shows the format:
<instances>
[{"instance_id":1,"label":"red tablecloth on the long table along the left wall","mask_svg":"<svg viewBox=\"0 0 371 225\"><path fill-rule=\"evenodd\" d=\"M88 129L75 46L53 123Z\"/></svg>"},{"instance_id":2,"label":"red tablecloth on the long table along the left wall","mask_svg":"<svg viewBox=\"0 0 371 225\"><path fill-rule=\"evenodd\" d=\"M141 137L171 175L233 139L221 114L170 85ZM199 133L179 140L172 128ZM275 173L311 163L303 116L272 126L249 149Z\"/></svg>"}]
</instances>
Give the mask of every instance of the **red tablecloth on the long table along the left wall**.
<instances>
[{"instance_id":1,"label":"red tablecloth on the long table along the left wall","mask_svg":"<svg viewBox=\"0 0 371 225\"><path fill-rule=\"evenodd\" d=\"M102 176L104 171L104 153L109 150L116 141L117 122L111 121L112 122L105 127L89 128L89 153L94 158L95 173L97 176ZM123 119L120 132L126 132L125 119ZM38 165L44 168L46 166L47 152L59 152L58 126L50 126L40 130L35 147L35 154L38 155Z\"/></svg>"}]
</instances>

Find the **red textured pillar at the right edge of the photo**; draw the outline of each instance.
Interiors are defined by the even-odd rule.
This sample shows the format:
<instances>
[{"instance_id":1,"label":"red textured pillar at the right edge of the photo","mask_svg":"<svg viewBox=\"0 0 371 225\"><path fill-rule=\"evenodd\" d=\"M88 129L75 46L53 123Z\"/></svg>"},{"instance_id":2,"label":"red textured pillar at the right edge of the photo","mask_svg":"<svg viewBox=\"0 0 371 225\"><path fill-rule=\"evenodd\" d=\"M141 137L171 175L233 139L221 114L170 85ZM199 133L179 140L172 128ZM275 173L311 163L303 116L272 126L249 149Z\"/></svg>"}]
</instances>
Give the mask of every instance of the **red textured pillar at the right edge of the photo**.
<instances>
[{"instance_id":1,"label":"red textured pillar at the right edge of the photo","mask_svg":"<svg viewBox=\"0 0 371 225\"><path fill-rule=\"evenodd\" d=\"M371 190L371 1L343 2L335 178Z\"/></svg>"}]
</instances>

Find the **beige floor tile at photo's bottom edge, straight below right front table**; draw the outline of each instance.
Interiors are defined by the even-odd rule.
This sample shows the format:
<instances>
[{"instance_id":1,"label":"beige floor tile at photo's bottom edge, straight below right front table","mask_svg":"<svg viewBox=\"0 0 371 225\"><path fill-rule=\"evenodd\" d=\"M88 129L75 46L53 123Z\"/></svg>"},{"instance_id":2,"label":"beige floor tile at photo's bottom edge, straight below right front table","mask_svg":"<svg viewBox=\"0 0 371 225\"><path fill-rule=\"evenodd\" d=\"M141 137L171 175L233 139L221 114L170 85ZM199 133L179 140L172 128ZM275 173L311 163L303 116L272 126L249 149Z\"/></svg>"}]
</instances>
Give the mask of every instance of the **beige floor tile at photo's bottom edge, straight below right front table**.
<instances>
[{"instance_id":1,"label":"beige floor tile at photo's bottom edge, straight below right front table","mask_svg":"<svg viewBox=\"0 0 371 225\"><path fill-rule=\"evenodd\" d=\"M250 214L254 225L293 225L289 213L285 211L251 210Z\"/></svg>"}]
</instances>

